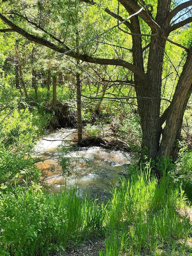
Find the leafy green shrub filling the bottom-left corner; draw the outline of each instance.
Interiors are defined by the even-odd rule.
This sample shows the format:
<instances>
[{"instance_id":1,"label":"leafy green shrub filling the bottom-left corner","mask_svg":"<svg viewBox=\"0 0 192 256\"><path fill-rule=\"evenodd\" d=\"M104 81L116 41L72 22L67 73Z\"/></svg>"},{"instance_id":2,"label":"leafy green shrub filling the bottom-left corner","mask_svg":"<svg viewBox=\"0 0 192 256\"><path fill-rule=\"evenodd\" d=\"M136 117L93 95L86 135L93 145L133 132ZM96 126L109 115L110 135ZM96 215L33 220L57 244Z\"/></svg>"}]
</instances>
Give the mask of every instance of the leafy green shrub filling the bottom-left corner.
<instances>
[{"instance_id":1,"label":"leafy green shrub filling the bottom-left corner","mask_svg":"<svg viewBox=\"0 0 192 256\"><path fill-rule=\"evenodd\" d=\"M66 210L52 204L39 188L13 192L1 193L1 255L46 255L57 248L56 239L64 241L67 229Z\"/></svg>"}]
</instances>

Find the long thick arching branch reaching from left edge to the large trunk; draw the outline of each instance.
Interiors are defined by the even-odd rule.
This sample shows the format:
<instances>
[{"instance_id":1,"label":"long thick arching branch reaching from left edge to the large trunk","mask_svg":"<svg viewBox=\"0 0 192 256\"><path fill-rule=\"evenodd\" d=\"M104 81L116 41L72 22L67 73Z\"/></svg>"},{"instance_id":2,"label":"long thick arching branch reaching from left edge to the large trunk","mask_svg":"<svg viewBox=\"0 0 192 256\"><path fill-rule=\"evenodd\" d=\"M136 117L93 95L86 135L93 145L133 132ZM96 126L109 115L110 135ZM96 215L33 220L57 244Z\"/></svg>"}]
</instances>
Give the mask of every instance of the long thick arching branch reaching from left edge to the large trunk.
<instances>
[{"instance_id":1,"label":"long thick arching branch reaching from left edge to the large trunk","mask_svg":"<svg viewBox=\"0 0 192 256\"><path fill-rule=\"evenodd\" d=\"M66 48L58 47L57 45L53 44L52 42L45 40L44 38L37 37L35 35L29 34L25 30L21 29L20 27L16 26L14 23L12 23L10 20L8 20L4 15L0 13L1 20L4 21L8 26L10 26L12 29L15 30L15 32L19 33L20 35L23 35L25 38L27 38L29 41L44 45L58 53L65 53ZM78 54L73 52L65 53L65 55L73 57L75 59L79 59L85 62L89 63L96 63L96 64L102 64L102 65L114 65L114 66L122 66L124 68L128 68L129 70L133 71L135 74L137 74L142 80L148 80L148 76L140 69L137 68L135 65L126 62L121 59L99 59L94 58L85 54Z\"/></svg>"}]
</instances>

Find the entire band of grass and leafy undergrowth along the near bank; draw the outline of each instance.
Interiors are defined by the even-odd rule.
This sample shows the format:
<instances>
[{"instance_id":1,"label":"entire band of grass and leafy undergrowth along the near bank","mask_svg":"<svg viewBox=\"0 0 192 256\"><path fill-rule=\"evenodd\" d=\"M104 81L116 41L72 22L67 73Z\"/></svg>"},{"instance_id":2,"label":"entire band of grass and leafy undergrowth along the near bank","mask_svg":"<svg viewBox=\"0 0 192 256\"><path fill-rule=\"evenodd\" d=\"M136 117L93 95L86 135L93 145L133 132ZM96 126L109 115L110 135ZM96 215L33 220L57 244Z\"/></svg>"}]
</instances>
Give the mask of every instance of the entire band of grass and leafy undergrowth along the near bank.
<instances>
[{"instance_id":1,"label":"entire band of grass and leafy undergrowth along the near bank","mask_svg":"<svg viewBox=\"0 0 192 256\"><path fill-rule=\"evenodd\" d=\"M190 222L177 212L185 205L182 189L150 172L122 180L105 204L80 199L76 188L58 194L35 185L1 190L0 255L48 255L98 236L106 240L100 256L192 253Z\"/></svg>"}]
</instances>

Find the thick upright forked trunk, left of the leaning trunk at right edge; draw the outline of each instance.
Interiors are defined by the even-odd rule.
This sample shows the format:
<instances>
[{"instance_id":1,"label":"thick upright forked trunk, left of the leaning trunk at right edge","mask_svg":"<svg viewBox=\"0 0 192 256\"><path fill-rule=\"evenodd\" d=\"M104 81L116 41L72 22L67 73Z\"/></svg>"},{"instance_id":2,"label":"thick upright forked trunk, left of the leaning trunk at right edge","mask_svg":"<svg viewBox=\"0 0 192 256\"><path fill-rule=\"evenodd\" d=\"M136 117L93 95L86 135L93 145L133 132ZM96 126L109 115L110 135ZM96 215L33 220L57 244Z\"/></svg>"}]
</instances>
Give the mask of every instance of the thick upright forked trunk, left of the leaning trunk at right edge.
<instances>
[{"instance_id":1,"label":"thick upright forked trunk, left of the leaning trunk at right edge","mask_svg":"<svg viewBox=\"0 0 192 256\"><path fill-rule=\"evenodd\" d=\"M123 0L120 2L125 5ZM134 14L134 10L127 6L125 6L125 8L128 10L129 14ZM161 10L161 18L163 21L164 17L167 15L166 8L167 6L164 7L163 11ZM160 10L158 9L158 11ZM130 21L131 32L140 34L141 30L138 16L132 17ZM141 37L132 35L132 43L134 65L145 72ZM142 157L143 155L147 155L149 158L152 158L155 161L159 149L162 131L161 125L159 124L159 116L165 43L165 39L159 35L151 37L146 73L148 77L147 80L141 80L140 76L134 73L138 112L141 119L141 127L143 133Z\"/></svg>"}]
</instances>

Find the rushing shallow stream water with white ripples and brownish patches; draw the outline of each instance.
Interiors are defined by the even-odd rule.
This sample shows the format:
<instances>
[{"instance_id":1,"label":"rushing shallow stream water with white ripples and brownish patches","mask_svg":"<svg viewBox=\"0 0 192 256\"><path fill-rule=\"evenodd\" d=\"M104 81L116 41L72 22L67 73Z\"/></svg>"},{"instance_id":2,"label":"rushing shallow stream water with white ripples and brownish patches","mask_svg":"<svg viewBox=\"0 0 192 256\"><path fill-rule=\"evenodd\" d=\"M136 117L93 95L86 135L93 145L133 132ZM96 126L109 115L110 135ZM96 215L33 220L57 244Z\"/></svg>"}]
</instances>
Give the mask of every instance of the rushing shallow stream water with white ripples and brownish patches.
<instances>
[{"instance_id":1,"label":"rushing shallow stream water with white ripples and brownish patches","mask_svg":"<svg viewBox=\"0 0 192 256\"><path fill-rule=\"evenodd\" d=\"M35 146L35 155L44 159L38 163L38 168L46 173L46 183L52 185L52 190L61 190L65 186L77 186L81 196L88 194L90 197L108 197L113 185L119 183L127 165L131 164L131 155L120 150L104 149L99 146L70 147L76 137L76 129L60 129L52 132L40 140ZM75 165L69 177L61 175L58 165L58 146L69 148L65 157ZM51 171L54 167L54 171Z\"/></svg>"}]
</instances>

